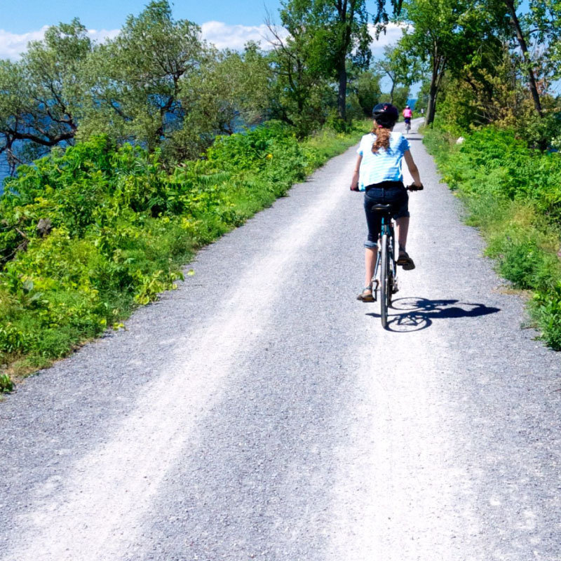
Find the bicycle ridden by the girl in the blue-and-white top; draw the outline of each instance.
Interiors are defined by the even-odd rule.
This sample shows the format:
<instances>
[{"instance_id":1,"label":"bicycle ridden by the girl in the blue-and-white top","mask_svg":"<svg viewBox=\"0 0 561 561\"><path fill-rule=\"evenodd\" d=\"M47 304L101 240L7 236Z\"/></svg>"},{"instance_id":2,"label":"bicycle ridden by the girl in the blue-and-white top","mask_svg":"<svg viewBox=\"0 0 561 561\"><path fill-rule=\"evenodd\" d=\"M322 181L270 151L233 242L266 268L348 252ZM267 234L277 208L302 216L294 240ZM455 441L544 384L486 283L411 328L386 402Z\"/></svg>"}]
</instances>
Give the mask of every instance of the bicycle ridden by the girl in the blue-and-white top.
<instances>
[{"instance_id":1,"label":"bicycle ridden by the girl in the blue-and-white top","mask_svg":"<svg viewBox=\"0 0 561 561\"><path fill-rule=\"evenodd\" d=\"M421 191L423 186L415 184L406 187L408 191ZM372 275L372 296L377 300L380 292L380 319L386 329L388 325L388 308L391 307L391 297L398 292L398 263L396 259L396 236L393 231L392 205L372 205L372 210L381 212L381 231L378 244L378 255ZM379 274L378 274L379 273ZM378 279L379 276L379 279Z\"/></svg>"}]
</instances>

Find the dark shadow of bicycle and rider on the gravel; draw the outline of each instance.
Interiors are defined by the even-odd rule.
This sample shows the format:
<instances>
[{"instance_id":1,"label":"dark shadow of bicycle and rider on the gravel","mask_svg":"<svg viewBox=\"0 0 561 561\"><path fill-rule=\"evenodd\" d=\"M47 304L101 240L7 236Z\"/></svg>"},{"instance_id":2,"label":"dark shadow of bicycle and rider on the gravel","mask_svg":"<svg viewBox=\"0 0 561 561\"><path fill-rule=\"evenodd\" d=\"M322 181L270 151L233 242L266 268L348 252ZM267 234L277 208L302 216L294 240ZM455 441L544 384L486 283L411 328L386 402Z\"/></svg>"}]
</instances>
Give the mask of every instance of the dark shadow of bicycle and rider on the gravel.
<instances>
[{"instance_id":1,"label":"dark shadow of bicycle and rider on the gravel","mask_svg":"<svg viewBox=\"0 0 561 561\"><path fill-rule=\"evenodd\" d=\"M500 308L459 302L459 300L428 300L426 298L399 298L392 302L388 310L386 329L394 332L420 331L431 327L433 320L453 318L474 318L496 313ZM392 313L393 312L393 313ZM379 318L379 313L367 313L367 316Z\"/></svg>"}]
</instances>

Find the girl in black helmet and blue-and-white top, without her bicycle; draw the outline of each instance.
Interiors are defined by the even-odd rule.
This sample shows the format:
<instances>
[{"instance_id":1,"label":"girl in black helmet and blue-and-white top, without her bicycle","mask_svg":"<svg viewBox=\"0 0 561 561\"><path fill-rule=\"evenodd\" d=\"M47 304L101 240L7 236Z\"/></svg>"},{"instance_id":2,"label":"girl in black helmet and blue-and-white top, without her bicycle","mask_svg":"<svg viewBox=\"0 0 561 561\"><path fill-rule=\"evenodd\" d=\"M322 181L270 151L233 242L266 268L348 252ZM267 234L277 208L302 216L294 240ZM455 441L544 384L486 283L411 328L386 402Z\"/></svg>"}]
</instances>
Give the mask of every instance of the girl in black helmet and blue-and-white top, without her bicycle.
<instances>
[{"instance_id":1,"label":"girl in black helmet and blue-and-white top, without her bicycle","mask_svg":"<svg viewBox=\"0 0 561 561\"><path fill-rule=\"evenodd\" d=\"M409 195L403 185L402 160L413 177L414 185L422 187L417 165L413 161L409 141L401 133L393 133L398 121L398 110L389 103L379 103L372 109L372 132L360 140L356 166L351 181L352 191L365 191L364 208L368 226L365 241L365 288L357 299L373 302L372 275L376 265L381 217L373 212L374 204L391 204L396 219L399 255L398 265L405 271L415 268L413 259L405 251L409 229Z\"/></svg>"}]
</instances>

